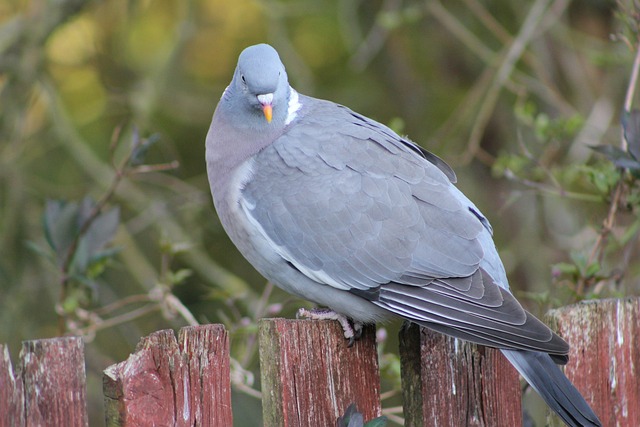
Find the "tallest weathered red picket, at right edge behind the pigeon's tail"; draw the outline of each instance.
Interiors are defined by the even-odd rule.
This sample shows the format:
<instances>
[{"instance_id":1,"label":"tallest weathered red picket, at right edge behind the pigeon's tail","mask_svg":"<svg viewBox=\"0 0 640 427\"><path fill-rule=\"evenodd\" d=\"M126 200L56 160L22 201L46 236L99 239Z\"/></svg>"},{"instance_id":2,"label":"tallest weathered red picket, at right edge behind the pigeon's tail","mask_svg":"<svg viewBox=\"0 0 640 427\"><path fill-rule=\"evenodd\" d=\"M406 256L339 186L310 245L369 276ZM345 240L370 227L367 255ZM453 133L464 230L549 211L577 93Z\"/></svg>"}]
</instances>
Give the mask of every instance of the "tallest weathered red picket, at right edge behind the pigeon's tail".
<instances>
[{"instance_id":1,"label":"tallest weathered red picket, at right edge behind the pigeon's tail","mask_svg":"<svg viewBox=\"0 0 640 427\"><path fill-rule=\"evenodd\" d=\"M585 301L548 319L571 345L565 374L603 425L640 426L640 298Z\"/></svg>"}]
</instances>

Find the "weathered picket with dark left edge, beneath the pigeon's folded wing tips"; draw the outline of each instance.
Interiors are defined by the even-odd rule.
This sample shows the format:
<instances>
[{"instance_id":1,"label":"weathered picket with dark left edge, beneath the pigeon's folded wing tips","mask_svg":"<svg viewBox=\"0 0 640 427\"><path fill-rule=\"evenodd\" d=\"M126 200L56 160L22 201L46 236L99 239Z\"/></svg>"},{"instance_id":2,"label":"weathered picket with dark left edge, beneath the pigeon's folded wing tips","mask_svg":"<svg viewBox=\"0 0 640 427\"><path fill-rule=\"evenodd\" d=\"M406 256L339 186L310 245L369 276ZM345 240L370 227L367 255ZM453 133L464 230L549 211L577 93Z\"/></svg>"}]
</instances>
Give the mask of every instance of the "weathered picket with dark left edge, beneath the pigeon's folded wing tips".
<instances>
[{"instance_id":1,"label":"weathered picket with dark left edge, beneath the pigeon's folded wing tips","mask_svg":"<svg viewBox=\"0 0 640 427\"><path fill-rule=\"evenodd\" d=\"M518 372L499 350L410 325L400 331L405 426L521 426Z\"/></svg>"}]
</instances>

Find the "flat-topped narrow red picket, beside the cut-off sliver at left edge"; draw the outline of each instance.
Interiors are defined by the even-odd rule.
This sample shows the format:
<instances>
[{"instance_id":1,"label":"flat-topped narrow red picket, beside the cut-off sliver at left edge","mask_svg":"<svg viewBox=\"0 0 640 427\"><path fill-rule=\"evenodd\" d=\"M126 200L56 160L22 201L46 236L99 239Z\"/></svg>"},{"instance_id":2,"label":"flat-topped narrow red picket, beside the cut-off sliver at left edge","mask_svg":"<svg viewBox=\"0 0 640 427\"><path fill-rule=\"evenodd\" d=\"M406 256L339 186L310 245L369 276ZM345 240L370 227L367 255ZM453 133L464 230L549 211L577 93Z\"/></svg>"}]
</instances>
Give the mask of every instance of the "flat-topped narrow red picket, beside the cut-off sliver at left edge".
<instances>
[{"instance_id":1,"label":"flat-topped narrow red picket, beside the cut-off sliver at left edge","mask_svg":"<svg viewBox=\"0 0 640 427\"><path fill-rule=\"evenodd\" d=\"M22 343L27 426L87 426L84 342L80 337Z\"/></svg>"}]
</instances>

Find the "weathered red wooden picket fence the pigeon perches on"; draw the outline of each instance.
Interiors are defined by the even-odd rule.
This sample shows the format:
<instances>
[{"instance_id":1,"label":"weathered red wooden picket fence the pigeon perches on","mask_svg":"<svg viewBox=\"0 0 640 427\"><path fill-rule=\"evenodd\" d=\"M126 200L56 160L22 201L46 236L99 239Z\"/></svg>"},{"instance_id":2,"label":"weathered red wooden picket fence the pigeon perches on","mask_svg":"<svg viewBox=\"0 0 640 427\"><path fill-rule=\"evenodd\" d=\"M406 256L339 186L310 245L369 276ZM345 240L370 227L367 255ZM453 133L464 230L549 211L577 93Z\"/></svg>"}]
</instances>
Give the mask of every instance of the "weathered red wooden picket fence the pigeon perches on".
<instances>
[{"instance_id":1,"label":"weathered red wooden picket fence the pigeon perches on","mask_svg":"<svg viewBox=\"0 0 640 427\"><path fill-rule=\"evenodd\" d=\"M580 303L547 319L571 345L565 372L605 426L640 426L640 299ZM497 350L401 331L406 426L521 426L517 372ZM347 347L337 322L259 324L265 426L334 426L355 403L381 414L375 330ZM108 426L231 426L223 326L154 332L104 372ZM0 345L0 426L86 426L84 344L26 341L17 369ZM561 425L552 420L554 425Z\"/></svg>"}]
</instances>

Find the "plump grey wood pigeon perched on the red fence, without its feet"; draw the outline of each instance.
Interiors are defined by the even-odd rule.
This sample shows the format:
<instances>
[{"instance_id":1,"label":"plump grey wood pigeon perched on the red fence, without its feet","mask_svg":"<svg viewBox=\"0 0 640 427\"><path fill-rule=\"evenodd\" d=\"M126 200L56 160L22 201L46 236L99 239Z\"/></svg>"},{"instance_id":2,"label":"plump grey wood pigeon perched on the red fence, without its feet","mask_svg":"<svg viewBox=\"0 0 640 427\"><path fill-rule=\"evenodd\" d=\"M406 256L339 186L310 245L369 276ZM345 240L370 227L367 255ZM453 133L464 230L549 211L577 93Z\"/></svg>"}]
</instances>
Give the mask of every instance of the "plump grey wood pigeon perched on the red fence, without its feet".
<instances>
[{"instance_id":1,"label":"plump grey wood pigeon perched on the red fence, without its feet","mask_svg":"<svg viewBox=\"0 0 640 427\"><path fill-rule=\"evenodd\" d=\"M356 322L391 314L498 347L569 425L600 425L562 374L569 346L509 292L480 210L437 156L346 107L297 94L247 48L214 113L220 220L266 278Z\"/></svg>"}]
</instances>

